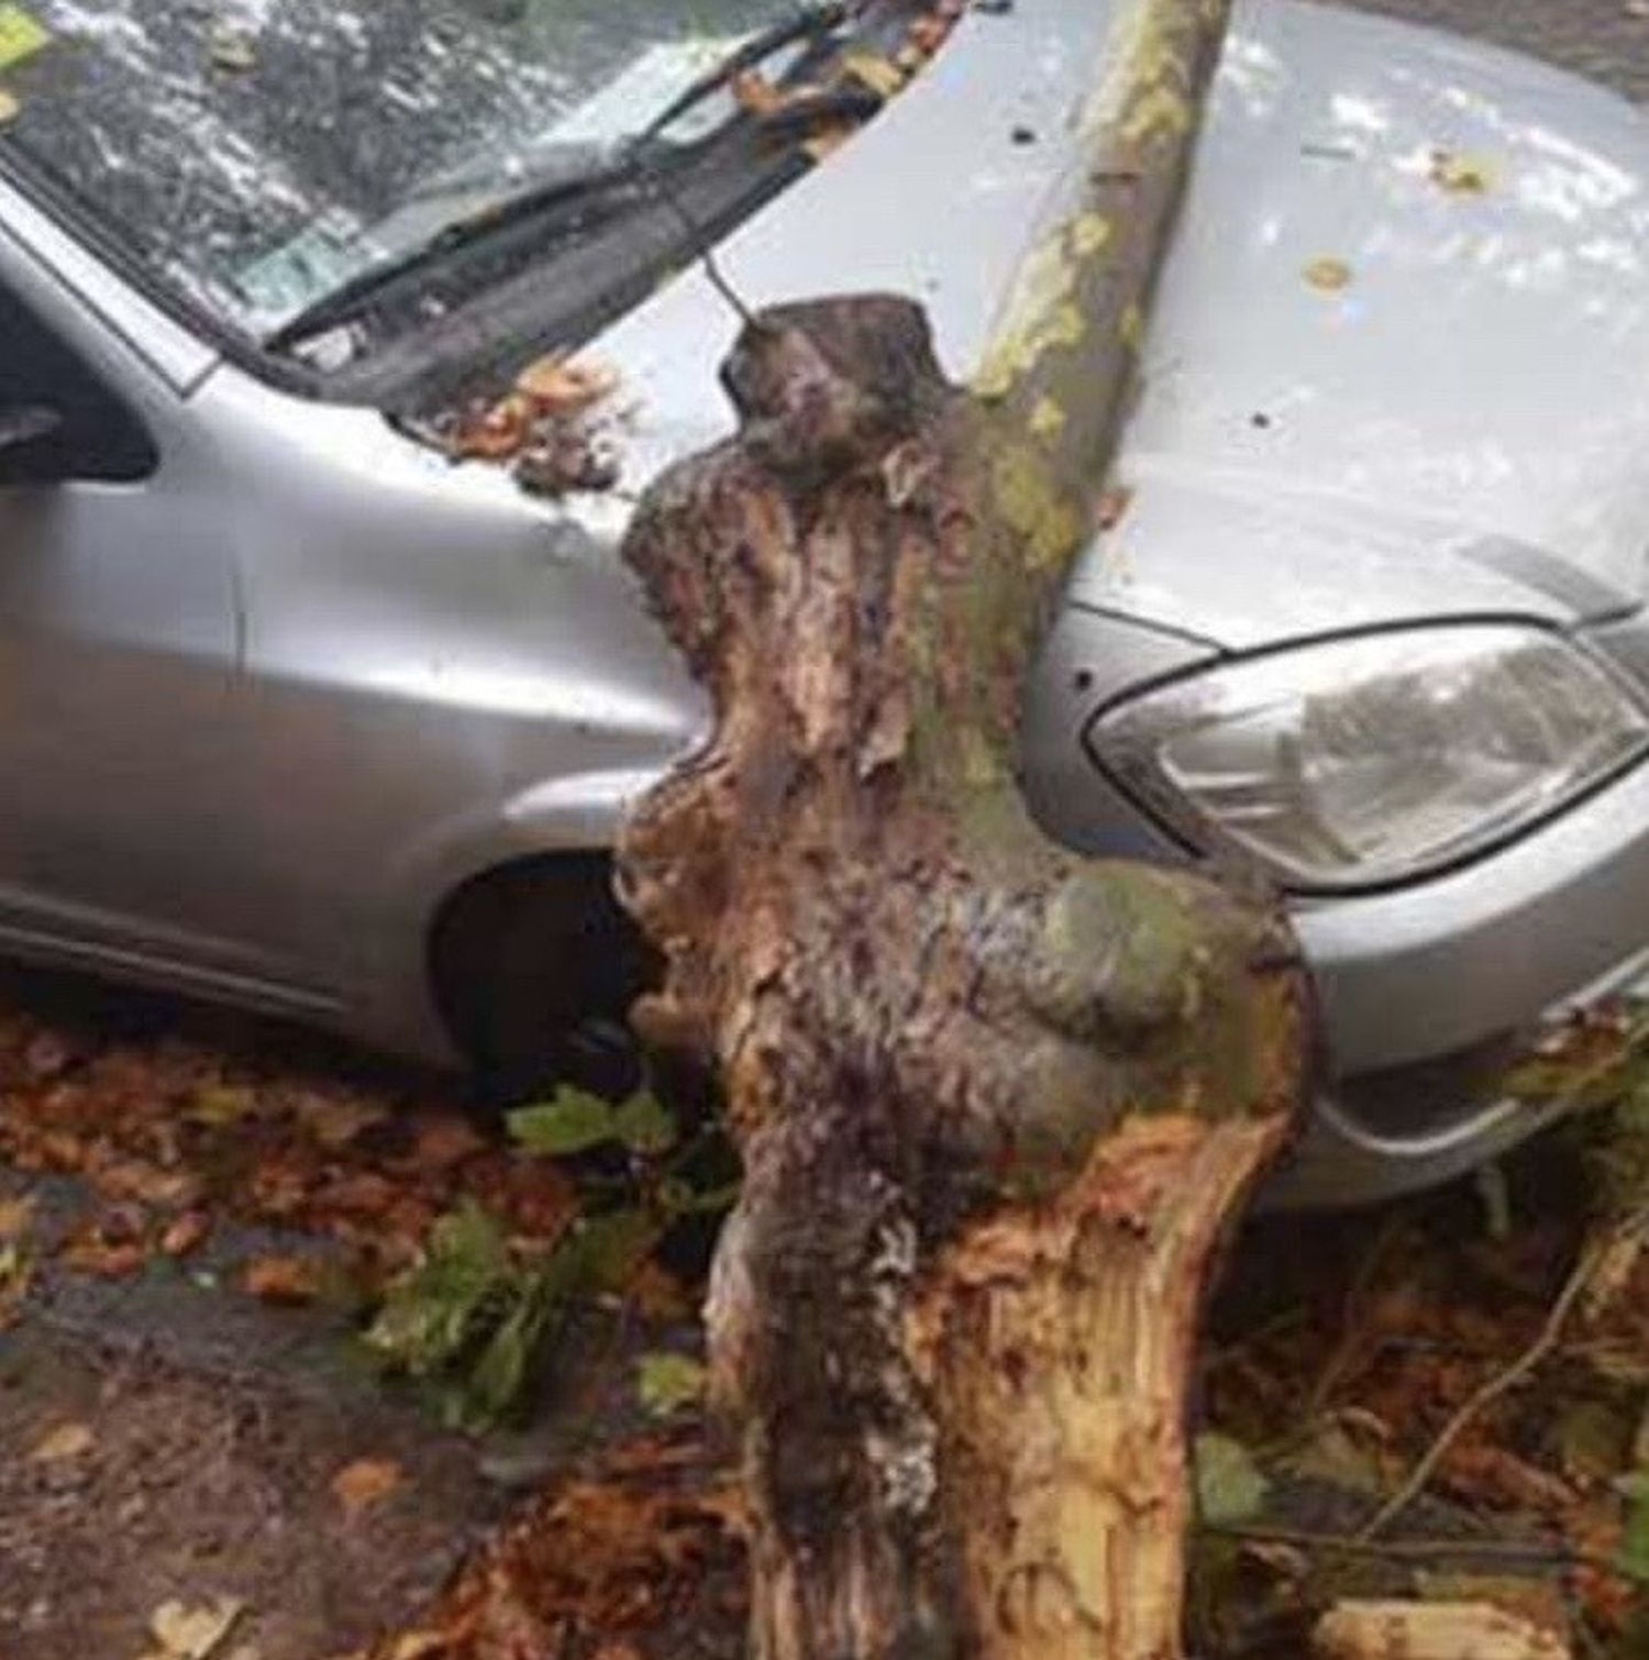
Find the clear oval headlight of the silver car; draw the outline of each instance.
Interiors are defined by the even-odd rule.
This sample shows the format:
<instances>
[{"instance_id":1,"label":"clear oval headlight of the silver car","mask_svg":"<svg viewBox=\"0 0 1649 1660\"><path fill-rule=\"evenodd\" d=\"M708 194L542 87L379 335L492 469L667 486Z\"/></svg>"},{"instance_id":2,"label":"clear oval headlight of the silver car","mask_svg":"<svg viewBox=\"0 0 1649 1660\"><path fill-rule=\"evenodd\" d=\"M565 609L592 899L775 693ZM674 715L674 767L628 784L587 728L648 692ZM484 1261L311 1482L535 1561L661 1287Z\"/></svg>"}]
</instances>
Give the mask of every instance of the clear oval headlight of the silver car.
<instances>
[{"instance_id":1,"label":"clear oval headlight of the silver car","mask_svg":"<svg viewBox=\"0 0 1649 1660\"><path fill-rule=\"evenodd\" d=\"M1114 704L1088 737L1192 845L1236 843L1310 891L1505 840L1641 755L1649 717L1558 634L1460 624L1196 672Z\"/></svg>"}]
</instances>

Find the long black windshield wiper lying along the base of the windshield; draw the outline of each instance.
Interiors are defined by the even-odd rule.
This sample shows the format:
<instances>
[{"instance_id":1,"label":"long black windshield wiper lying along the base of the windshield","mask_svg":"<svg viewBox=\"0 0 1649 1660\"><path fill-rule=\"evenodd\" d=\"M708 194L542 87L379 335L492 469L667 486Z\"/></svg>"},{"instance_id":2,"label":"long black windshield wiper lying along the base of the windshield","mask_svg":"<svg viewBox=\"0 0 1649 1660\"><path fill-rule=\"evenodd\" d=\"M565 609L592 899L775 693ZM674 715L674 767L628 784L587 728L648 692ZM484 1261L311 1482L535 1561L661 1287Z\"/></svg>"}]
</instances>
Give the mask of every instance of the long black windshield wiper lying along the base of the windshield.
<instances>
[{"instance_id":1,"label":"long black windshield wiper lying along the base of the windshield","mask_svg":"<svg viewBox=\"0 0 1649 1660\"><path fill-rule=\"evenodd\" d=\"M613 151L613 159L598 163L583 173L563 174L545 184L531 184L513 196L505 196L502 201L490 203L473 214L442 226L433 236L399 254L367 266L266 335L264 350L286 350L297 340L330 329L334 324L347 322L374 295L392 287L400 277L427 261L468 247L472 242L495 236L506 226L520 224L550 208L608 196L614 191L631 189L639 194L661 188L661 174L696 159L709 144L709 138L689 144L664 144L659 143L664 131L696 105L726 88L737 75L795 42L822 40L855 10L857 0L825 0L824 5L771 23L683 88L646 126L621 139ZM829 118L864 120L873 115L880 105L880 95L862 86L807 91L777 110L754 116L754 126L761 133L802 131Z\"/></svg>"}]
</instances>

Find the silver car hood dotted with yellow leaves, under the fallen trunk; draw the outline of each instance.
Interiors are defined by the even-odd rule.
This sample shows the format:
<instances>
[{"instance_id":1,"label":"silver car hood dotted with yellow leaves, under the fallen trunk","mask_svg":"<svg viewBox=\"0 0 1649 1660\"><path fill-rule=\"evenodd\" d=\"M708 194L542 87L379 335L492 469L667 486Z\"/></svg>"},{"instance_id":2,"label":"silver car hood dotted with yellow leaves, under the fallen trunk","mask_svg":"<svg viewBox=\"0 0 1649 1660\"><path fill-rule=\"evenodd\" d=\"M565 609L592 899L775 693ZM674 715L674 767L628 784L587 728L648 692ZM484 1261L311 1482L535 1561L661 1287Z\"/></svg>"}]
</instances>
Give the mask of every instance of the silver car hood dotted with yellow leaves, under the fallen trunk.
<instances>
[{"instance_id":1,"label":"silver car hood dotted with yellow leaves, under the fallen trunk","mask_svg":"<svg viewBox=\"0 0 1649 1660\"><path fill-rule=\"evenodd\" d=\"M1113 5L971 12L719 251L749 307L887 289L965 377L1068 159ZM1649 121L1448 35L1247 0L1078 603L1226 647L1631 609L1649 531ZM737 329L692 269L608 332L624 490L721 437Z\"/></svg>"}]
</instances>

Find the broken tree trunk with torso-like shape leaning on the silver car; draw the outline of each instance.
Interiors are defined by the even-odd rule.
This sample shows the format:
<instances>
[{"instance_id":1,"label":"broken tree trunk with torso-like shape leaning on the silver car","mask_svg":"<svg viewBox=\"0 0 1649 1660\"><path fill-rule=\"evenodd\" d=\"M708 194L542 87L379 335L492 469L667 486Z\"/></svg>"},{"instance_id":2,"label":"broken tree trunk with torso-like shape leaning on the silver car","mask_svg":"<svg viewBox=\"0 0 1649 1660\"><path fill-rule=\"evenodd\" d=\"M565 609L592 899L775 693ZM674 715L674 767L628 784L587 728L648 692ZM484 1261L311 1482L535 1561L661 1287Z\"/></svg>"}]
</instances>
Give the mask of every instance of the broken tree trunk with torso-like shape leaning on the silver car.
<instances>
[{"instance_id":1,"label":"broken tree trunk with torso-like shape leaning on the silver car","mask_svg":"<svg viewBox=\"0 0 1649 1660\"><path fill-rule=\"evenodd\" d=\"M971 393L903 300L766 312L626 543L716 707L619 881L638 1026L746 1162L707 1318L764 1660L1179 1648L1197 1311L1302 979L1267 910L1050 843L1013 754L1222 27L1126 12Z\"/></svg>"}]
</instances>

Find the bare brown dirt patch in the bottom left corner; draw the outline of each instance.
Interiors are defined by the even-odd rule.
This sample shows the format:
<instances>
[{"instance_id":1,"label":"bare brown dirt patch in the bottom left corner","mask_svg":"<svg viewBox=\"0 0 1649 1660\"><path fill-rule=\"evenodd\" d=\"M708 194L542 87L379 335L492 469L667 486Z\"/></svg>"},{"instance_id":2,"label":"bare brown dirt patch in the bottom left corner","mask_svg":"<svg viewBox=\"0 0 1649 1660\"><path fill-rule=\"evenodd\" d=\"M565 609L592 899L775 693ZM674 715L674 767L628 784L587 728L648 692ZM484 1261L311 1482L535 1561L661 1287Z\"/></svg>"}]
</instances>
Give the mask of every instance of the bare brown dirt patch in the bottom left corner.
<instances>
[{"instance_id":1,"label":"bare brown dirt patch in the bottom left corner","mask_svg":"<svg viewBox=\"0 0 1649 1660\"><path fill-rule=\"evenodd\" d=\"M232 1599L228 1652L342 1653L422 1607L503 1507L455 1438L344 1391L33 1323L0 1366L0 1630L17 1660L136 1660L173 1599ZM350 1514L332 1484L364 1459L395 1486Z\"/></svg>"}]
</instances>

